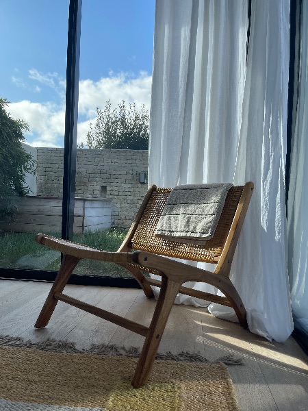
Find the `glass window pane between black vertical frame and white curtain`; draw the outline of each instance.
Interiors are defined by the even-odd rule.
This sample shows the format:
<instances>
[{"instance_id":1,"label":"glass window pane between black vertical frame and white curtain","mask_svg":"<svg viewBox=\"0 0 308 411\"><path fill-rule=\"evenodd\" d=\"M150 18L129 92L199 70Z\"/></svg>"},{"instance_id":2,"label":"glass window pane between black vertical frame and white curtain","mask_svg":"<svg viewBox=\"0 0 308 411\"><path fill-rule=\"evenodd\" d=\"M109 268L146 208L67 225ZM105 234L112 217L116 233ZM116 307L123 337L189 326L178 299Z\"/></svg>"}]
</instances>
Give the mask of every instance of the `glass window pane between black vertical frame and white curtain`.
<instances>
[{"instance_id":1,"label":"glass window pane between black vertical frame and white curtain","mask_svg":"<svg viewBox=\"0 0 308 411\"><path fill-rule=\"evenodd\" d=\"M149 110L154 8L154 0L83 2L76 197L84 201L84 225L76 238L110 251L123 241L146 192L140 173L147 173L148 151L90 149L87 134L97 108L106 114L125 101L127 110L129 103ZM101 262L83 262L74 273L129 276Z\"/></svg>"}]
</instances>

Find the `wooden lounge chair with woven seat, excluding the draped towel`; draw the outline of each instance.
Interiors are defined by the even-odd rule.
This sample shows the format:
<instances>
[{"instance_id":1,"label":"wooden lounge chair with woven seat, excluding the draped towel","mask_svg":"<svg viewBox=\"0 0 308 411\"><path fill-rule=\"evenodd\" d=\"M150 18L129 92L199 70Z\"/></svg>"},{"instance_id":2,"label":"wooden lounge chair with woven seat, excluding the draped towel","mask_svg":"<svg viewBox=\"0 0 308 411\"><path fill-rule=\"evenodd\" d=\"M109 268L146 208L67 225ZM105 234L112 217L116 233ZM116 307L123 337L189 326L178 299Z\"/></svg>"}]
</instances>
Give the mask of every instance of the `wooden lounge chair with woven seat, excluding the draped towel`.
<instances>
[{"instance_id":1,"label":"wooden lounge chair with woven seat, excluding the draped towel","mask_svg":"<svg viewBox=\"0 0 308 411\"><path fill-rule=\"evenodd\" d=\"M208 240L206 245L172 242L154 235L155 227L170 191L170 188L157 188L156 186L149 188L127 237L115 253L93 249L86 245L79 245L44 234L36 236L37 242L61 251L64 258L35 327L46 326L57 301L64 301L71 306L81 308L81 310L141 334L145 337L145 341L132 381L133 386L136 388L144 385L151 373L159 342L178 292L233 307L240 324L247 327L246 310L240 295L229 279L229 273L235 247L253 192L253 183L248 182L245 186L234 186L229 190L214 238ZM216 264L216 267L214 272L210 272L168 257L210 262ZM136 277L146 297L153 297L151 286L161 287L149 327L129 321L62 293L75 266L79 260L84 258L114 262L124 266ZM162 281L151 279L149 275L146 276L144 273L158 274L162 277ZM211 284L221 290L225 297L182 286L184 282L189 281Z\"/></svg>"}]
</instances>

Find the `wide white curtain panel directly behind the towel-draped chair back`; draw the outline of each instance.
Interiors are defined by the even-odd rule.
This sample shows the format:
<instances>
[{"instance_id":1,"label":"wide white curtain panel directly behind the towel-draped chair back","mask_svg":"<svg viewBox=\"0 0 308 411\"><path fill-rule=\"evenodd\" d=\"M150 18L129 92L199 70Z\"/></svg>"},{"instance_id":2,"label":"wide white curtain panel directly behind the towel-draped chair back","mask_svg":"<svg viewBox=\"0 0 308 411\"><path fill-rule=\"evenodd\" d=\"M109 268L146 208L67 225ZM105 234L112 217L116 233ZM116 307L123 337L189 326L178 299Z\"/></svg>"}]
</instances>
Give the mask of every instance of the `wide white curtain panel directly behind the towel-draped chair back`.
<instances>
[{"instance_id":1,"label":"wide white curtain panel directly behind the towel-draped chair back","mask_svg":"<svg viewBox=\"0 0 308 411\"><path fill-rule=\"evenodd\" d=\"M246 1L157 1L149 184L232 182L246 34ZM201 283L185 286L215 292ZM175 302L209 305L186 295Z\"/></svg>"}]
</instances>

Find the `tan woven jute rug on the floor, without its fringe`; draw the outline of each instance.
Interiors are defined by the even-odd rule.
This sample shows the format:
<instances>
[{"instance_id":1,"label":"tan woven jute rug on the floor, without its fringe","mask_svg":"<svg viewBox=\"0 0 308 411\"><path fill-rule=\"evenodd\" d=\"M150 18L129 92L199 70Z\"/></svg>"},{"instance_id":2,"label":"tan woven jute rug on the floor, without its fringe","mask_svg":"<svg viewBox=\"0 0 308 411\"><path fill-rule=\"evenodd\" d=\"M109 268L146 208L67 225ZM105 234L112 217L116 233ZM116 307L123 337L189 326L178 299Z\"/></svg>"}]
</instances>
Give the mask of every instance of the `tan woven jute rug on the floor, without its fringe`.
<instances>
[{"instance_id":1,"label":"tan woven jute rug on the floor, without its fringe","mask_svg":"<svg viewBox=\"0 0 308 411\"><path fill-rule=\"evenodd\" d=\"M112 346L109 350L114 353ZM2 339L0 410L240 410L222 362L188 362L185 353L181 361L157 360L149 382L135 389L131 379L138 359L133 353L53 352L47 345L34 348L32 343L5 344Z\"/></svg>"}]
</instances>

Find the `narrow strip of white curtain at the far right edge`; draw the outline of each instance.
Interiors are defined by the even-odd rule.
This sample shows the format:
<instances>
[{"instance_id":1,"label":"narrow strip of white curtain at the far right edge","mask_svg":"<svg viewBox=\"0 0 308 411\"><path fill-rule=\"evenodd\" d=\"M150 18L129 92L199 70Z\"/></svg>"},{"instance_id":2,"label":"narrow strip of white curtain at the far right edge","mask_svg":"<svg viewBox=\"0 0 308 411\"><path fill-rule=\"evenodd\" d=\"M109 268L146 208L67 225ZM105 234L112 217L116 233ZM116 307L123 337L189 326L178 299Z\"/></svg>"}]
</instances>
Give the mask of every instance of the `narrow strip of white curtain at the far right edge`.
<instances>
[{"instance_id":1,"label":"narrow strip of white curtain at the far right edge","mask_svg":"<svg viewBox=\"0 0 308 411\"><path fill-rule=\"evenodd\" d=\"M308 2L301 13L298 106L288 196L288 266L294 317L308 331Z\"/></svg>"}]
</instances>

